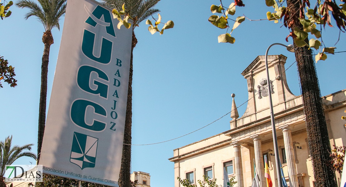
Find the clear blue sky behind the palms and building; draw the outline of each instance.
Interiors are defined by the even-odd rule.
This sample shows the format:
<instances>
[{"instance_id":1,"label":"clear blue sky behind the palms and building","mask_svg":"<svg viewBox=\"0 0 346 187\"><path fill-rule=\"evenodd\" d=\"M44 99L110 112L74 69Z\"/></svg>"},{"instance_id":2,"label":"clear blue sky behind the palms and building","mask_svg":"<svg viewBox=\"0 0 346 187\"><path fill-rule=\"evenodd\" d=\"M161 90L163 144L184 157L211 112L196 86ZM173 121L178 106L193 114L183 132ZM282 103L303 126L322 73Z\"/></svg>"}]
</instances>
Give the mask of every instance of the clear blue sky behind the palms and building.
<instances>
[{"instance_id":1,"label":"clear blue sky behind the palms and building","mask_svg":"<svg viewBox=\"0 0 346 187\"><path fill-rule=\"evenodd\" d=\"M231 1L223 1L228 6ZM264 55L273 43L287 43L288 29L273 21L245 20L232 36L235 44L219 44L217 36L226 30L208 22L211 4L219 1L160 1L162 21L174 21L174 28L163 35L151 35L143 22L135 33L138 44L134 49L133 76L133 144L166 141L197 130L227 114L231 110L231 93L235 93L237 106L247 101L247 85L240 74L258 56ZM245 8L237 7L236 16L264 19L272 11L264 1L244 1ZM13 144L34 143L37 151L38 102L40 91L42 35L44 28L34 17L24 20L25 9L10 8L12 15L0 20L0 55L15 67L18 86L10 88L3 83L0 88L2 111L0 139L13 135ZM155 16L157 17L157 16ZM334 24L335 25L335 24ZM162 26L161 26L162 27ZM48 95L54 78L57 54L63 29L53 29L48 68ZM327 46L338 39L337 28L322 30ZM346 35L340 36L336 52L346 51ZM316 52L317 53L317 52ZM285 67L294 63L294 54L284 47L274 46L270 55L288 57ZM316 64L321 95L346 88L346 53L328 55ZM297 67L293 64L286 72L288 85L295 95L300 95ZM47 107L48 109L48 107ZM239 107L241 116L246 103ZM183 138L151 146L132 147L132 171L151 175L151 186L174 186L173 149L229 130L229 114L208 127ZM30 164L33 160L22 158L16 164ZM218 183L222 183L221 180Z\"/></svg>"}]
</instances>

